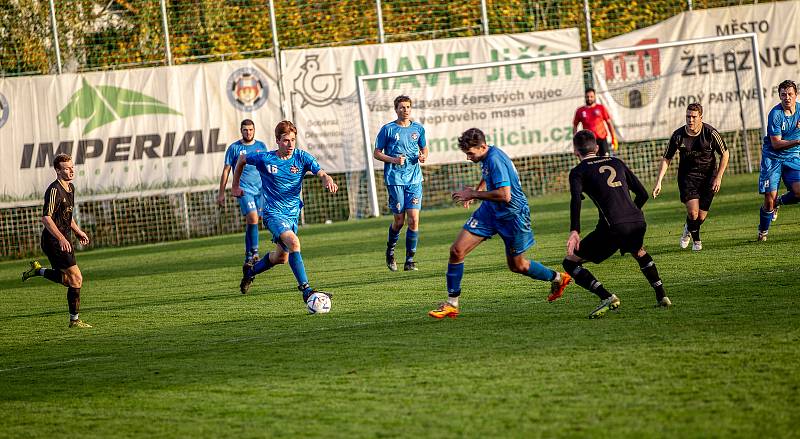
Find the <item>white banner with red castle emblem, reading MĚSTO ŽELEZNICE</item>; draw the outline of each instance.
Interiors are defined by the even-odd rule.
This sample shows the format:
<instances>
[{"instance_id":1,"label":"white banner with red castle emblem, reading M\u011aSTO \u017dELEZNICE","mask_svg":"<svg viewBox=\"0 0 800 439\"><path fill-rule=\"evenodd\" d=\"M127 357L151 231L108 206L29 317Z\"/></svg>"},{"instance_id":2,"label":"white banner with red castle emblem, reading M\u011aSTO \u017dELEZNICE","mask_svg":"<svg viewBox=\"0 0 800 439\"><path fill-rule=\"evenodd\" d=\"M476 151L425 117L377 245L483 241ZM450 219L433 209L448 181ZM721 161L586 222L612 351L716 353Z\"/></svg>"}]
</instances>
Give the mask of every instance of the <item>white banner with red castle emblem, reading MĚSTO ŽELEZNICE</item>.
<instances>
[{"instance_id":1,"label":"white banner with red castle emblem, reading M\u011aSTO \u017dELEZNICE","mask_svg":"<svg viewBox=\"0 0 800 439\"><path fill-rule=\"evenodd\" d=\"M689 11L595 47L756 33L769 111L778 101L778 83L800 79L798 16L798 1ZM719 130L741 129L742 119L747 128L761 127L753 54L744 40L633 51L593 61L601 101L625 141L668 137L685 123L685 109L692 102L703 106L703 120Z\"/></svg>"}]
</instances>

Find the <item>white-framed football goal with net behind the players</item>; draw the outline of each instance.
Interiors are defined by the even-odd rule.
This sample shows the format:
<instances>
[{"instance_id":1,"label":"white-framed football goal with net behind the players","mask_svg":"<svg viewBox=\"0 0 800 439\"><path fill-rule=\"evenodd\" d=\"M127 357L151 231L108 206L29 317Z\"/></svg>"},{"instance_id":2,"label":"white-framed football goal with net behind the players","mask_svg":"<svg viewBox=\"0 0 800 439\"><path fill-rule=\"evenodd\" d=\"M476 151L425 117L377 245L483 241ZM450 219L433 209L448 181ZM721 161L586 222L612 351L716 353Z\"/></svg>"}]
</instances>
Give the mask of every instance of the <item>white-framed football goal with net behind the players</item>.
<instances>
[{"instance_id":1,"label":"white-framed football goal with net behind the players","mask_svg":"<svg viewBox=\"0 0 800 439\"><path fill-rule=\"evenodd\" d=\"M692 102L700 103L703 120L723 133L731 150L729 172L748 172L758 163L763 127L752 49L752 35L642 41L635 47L362 76L360 141L365 157L371 157L381 126L397 117L394 98L408 95L411 118L425 127L429 149L422 167L423 206L450 205L453 190L480 180L479 166L467 163L457 144L472 127L513 159L528 196L565 191L577 161L571 154L573 117L585 105L586 84L593 83L618 133L614 154L642 180L655 177L666 143L685 124ZM590 75L584 75L584 65ZM432 81L448 81L446 92L434 95L433 87L425 87ZM373 178L366 176L355 197L357 208L387 214L383 163L368 160Z\"/></svg>"}]
</instances>

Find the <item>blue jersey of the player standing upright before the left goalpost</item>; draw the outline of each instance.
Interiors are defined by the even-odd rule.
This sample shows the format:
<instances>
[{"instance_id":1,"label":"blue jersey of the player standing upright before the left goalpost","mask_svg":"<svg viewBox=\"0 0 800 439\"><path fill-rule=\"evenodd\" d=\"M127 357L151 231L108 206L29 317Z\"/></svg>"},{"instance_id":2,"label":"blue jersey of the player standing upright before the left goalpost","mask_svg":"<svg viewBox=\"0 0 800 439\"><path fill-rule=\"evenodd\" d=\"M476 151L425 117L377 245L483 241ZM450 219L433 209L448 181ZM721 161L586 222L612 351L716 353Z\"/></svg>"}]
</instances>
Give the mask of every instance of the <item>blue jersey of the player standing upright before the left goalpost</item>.
<instances>
[{"instance_id":1,"label":"blue jersey of the player standing upright before the left goalpost","mask_svg":"<svg viewBox=\"0 0 800 439\"><path fill-rule=\"evenodd\" d=\"M383 181L387 186L422 183L422 170L419 167L419 152L425 148L425 128L422 124L411 122L402 127L397 122L384 125L375 139L375 149L392 157L406 156L403 165L383 164Z\"/></svg>"}]
</instances>

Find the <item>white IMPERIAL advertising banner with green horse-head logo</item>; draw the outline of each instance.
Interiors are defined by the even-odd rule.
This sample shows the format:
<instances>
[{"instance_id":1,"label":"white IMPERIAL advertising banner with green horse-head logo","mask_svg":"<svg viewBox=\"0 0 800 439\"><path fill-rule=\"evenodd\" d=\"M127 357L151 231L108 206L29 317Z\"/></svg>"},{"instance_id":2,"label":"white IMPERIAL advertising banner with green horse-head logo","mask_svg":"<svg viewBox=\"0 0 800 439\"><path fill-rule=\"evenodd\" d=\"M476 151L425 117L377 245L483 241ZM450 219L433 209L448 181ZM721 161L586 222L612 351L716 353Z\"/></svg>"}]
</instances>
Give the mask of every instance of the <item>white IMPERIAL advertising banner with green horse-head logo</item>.
<instances>
[{"instance_id":1,"label":"white IMPERIAL advertising banner with green horse-head logo","mask_svg":"<svg viewBox=\"0 0 800 439\"><path fill-rule=\"evenodd\" d=\"M0 202L41 197L61 152L80 196L218 182L242 119L274 143L275 71L270 58L0 78Z\"/></svg>"}]
</instances>

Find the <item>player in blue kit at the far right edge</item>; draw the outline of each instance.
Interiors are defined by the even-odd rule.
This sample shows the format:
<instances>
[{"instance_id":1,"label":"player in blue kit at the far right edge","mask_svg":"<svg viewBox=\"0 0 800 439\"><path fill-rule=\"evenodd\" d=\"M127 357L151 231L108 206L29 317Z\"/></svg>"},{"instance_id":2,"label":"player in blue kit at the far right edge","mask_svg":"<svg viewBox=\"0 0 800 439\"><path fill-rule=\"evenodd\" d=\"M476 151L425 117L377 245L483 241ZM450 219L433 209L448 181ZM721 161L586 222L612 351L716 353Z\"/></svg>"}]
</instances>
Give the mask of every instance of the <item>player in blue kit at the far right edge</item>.
<instances>
[{"instance_id":1,"label":"player in blue kit at the far right edge","mask_svg":"<svg viewBox=\"0 0 800 439\"><path fill-rule=\"evenodd\" d=\"M779 206L800 200L800 113L797 111L797 84L783 81L778 85L781 103L767 116L767 135L761 146L761 171L758 193L764 194L758 224L758 240L766 241L770 223L777 218ZM788 192L778 196L781 177Z\"/></svg>"}]
</instances>

